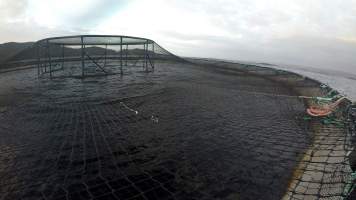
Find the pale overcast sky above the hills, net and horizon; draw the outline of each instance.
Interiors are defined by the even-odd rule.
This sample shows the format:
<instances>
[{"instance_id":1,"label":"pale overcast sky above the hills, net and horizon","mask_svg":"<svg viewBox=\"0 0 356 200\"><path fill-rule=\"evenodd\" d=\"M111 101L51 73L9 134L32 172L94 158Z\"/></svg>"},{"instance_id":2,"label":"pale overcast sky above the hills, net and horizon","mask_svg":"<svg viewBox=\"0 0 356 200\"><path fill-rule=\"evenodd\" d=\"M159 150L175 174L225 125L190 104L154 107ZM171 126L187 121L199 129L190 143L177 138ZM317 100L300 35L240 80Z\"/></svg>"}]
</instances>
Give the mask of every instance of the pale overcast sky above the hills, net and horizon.
<instances>
[{"instance_id":1,"label":"pale overcast sky above the hills, net and horizon","mask_svg":"<svg viewBox=\"0 0 356 200\"><path fill-rule=\"evenodd\" d=\"M356 74L356 0L0 0L0 43L73 34Z\"/></svg>"}]
</instances>

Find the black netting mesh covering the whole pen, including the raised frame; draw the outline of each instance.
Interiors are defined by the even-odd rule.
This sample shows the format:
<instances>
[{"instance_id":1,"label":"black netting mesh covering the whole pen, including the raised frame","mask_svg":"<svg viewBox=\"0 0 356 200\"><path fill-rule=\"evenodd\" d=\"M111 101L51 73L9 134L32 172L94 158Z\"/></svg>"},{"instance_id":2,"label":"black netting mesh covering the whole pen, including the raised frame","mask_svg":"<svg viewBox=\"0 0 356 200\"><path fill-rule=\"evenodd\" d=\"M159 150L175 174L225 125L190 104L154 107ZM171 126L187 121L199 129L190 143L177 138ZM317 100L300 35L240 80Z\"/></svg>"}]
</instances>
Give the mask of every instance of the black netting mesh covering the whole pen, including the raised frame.
<instances>
[{"instance_id":1,"label":"black netting mesh covering the whole pen, including the raised frame","mask_svg":"<svg viewBox=\"0 0 356 200\"><path fill-rule=\"evenodd\" d=\"M33 68L1 74L0 199L355 198L355 108L310 118L300 98L331 88L142 38L84 39L39 41L10 63Z\"/></svg>"}]
</instances>

